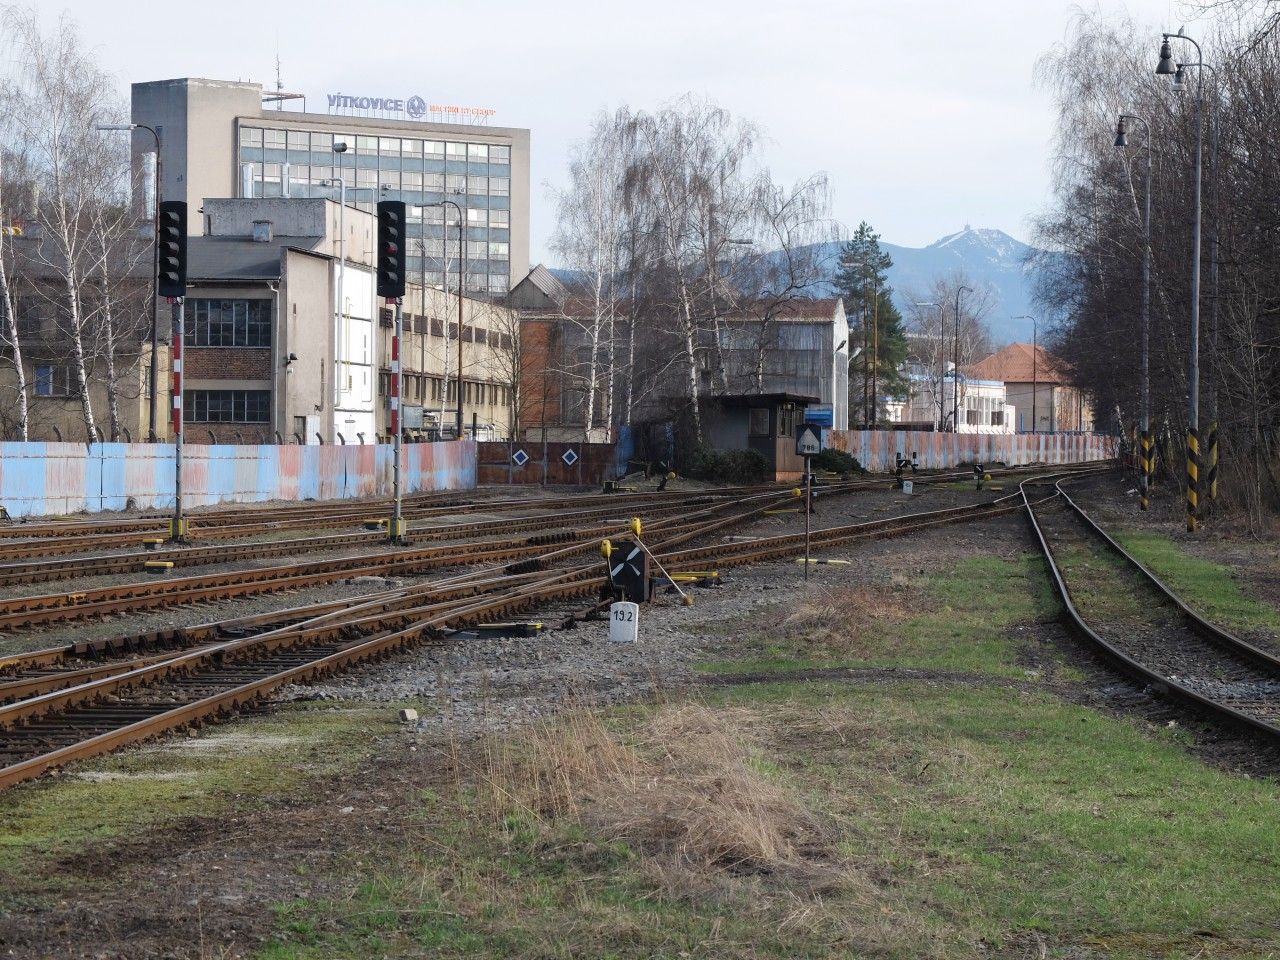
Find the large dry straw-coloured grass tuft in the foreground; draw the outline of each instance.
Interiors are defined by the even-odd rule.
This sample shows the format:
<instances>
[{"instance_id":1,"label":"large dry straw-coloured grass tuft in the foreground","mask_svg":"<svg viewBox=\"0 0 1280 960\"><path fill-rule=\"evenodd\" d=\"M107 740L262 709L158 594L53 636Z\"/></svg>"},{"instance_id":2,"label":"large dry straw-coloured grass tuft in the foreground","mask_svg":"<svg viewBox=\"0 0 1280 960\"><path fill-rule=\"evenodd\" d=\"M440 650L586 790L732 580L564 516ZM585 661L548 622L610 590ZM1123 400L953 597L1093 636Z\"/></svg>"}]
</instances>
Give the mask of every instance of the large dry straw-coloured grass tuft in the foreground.
<instances>
[{"instance_id":1,"label":"large dry straw-coloured grass tuft in the foreground","mask_svg":"<svg viewBox=\"0 0 1280 960\"><path fill-rule=\"evenodd\" d=\"M484 799L499 822L568 818L650 858L666 891L705 892L708 874L785 874L840 886L822 823L760 772L732 714L663 707L626 740L577 712L492 742Z\"/></svg>"}]
</instances>

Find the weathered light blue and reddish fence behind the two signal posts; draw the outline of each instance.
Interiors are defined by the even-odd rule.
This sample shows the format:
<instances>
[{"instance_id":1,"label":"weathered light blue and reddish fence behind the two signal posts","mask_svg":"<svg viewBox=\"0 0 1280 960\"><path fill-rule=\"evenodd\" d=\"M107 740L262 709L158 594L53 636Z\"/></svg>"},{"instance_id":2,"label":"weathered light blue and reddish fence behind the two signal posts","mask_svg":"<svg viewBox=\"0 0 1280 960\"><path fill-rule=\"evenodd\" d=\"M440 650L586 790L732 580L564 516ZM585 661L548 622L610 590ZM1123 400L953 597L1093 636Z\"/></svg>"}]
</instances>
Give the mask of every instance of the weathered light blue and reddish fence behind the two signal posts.
<instances>
[{"instance_id":1,"label":"weathered light blue and reddish fence behind the two signal posts","mask_svg":"<svg viewBox=\"0 0 1280 960\"><path fill-rule=\"evenodd\" d=\"M173 506L169 444L0 443L0 506L10 516L47 516ZM404 445L404 493L470 490L476 444ZM183 456L183 503L388 497L392 447L198 445ZM0 527L0 536L4 535Z\"/></svg>"}]
</instances>

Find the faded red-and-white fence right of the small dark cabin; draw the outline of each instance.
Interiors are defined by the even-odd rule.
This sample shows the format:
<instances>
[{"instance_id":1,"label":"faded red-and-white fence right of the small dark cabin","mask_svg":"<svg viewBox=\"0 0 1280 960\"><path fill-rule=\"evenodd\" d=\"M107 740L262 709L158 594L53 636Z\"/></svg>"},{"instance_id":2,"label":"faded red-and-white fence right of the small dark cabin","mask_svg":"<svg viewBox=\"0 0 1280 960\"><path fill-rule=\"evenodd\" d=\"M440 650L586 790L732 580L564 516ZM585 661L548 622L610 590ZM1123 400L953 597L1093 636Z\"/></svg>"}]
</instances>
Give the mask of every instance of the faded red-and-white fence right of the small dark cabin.
<instances>
[{"instance_id":1,"label":"faded red-and-white fence right of the small dark cabin","mask_svg":"<svg viewBox=\"0 0 1280 960\"><path fill-rule=\"evenodd\" d=\"M893 468L897 454L920 467L968 463L1084 463L1116 456L1117 438L1102 434L940 434L914 430L823 430L823 444L851 453L873 472Z\"/></svg>"}]
</instances>

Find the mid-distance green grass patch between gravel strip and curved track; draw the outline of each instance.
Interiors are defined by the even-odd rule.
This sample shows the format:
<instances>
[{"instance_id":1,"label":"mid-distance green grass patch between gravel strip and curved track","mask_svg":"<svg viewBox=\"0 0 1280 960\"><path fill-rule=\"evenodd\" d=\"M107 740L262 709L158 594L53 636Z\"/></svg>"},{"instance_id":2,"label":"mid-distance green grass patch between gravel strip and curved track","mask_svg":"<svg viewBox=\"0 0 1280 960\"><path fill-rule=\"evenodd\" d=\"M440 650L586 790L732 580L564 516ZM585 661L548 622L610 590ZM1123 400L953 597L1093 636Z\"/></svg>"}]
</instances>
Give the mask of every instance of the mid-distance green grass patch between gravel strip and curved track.
<instances>
[{"instance_id":1,"label":"mid-distance green grass patch between gravel strip and curved track","mask_svg":"<svg viewBox=\"0 0 1280 960\"><path fill-rule=\"evenodd\" d=\"M1009 630L1056 609L1037 557L966 557L905 585L814 590L777 626L760 630L759 617L744 621L740 655L699 668L911 667L1024 678L1020 641Z\"/></svg>"}]
</instances>

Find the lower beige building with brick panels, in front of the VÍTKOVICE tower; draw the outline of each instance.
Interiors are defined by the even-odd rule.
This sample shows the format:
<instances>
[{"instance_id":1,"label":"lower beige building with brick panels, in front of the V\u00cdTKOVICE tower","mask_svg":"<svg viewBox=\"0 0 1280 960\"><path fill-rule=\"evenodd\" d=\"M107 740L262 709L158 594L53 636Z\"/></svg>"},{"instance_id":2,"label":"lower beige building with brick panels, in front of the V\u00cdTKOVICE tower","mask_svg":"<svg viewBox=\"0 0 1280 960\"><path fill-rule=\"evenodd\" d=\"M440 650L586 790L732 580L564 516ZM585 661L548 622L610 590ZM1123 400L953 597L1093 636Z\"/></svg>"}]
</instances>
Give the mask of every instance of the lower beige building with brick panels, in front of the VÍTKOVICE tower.
<instances>
[{"instance_id":1,"label":"lower beige building with brick panels, in front of the V\u00cdTKOVICE tower","mask_svg":"<svg viewBox=\"0 0 1280 960\"><path fill-rule=\"evenodd\" d=\"M189 243L187 440L385 439L393 315L374 291L374 216L320 198L209 198L204 206L207 233ZM410 283L403 310L406 436L433 439L442 426L453 435L457 296L424 296ZM509 435L507 315L488 300L463 298L463 426L480 439Z\"/></svg>"}]
</instances>

